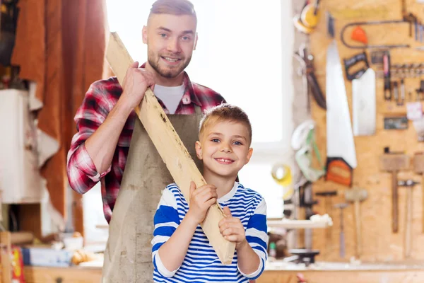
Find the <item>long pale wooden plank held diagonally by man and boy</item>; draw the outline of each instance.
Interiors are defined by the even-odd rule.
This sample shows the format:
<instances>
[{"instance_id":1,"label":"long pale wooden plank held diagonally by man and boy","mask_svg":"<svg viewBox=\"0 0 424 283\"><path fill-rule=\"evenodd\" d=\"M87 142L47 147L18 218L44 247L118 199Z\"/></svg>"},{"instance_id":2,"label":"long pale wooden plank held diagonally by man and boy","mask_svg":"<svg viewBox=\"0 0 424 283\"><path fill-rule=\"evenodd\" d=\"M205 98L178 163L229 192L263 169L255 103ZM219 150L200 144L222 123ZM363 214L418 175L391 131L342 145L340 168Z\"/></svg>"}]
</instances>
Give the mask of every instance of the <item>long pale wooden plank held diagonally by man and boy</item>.
<instances>
[{"instance_id":1,"label":"long pale wooden plank held diagonally by man and boy","mask_svg":"<svg viewBox=\"0 0 424 283\"><path fill-rule=\"evenodd\" d=\"M134 63L131 55L117 33L111 33L107 45L106 59L117 76L119 83L124 81L124 76L129 65ZM206 185L206 181L196 167L192 157L182 144L167 115L155 98L151 88L147 88L143 100L135 108L136 114L148 132L148 136L155 144L158 153L165 162L175 183L180 187L187 202L190 200L189 188L193 180L196 187ZM219 204L213 204L206 214L201 228L215 249L220 261L228 265L232 262L235 253L235 243L231 243L220 234L218 222L225 217Z\"/></svg>"}]
</instances>

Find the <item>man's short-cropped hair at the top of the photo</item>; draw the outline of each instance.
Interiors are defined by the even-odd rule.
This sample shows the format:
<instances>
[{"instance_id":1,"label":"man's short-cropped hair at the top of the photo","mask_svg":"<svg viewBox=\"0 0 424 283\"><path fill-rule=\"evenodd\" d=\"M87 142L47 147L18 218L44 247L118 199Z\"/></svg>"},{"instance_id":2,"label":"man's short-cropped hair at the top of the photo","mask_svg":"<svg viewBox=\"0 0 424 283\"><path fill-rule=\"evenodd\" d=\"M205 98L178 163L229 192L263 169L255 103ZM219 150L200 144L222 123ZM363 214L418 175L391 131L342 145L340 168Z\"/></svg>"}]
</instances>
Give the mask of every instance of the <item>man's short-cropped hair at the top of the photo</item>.
<instances>
[{"instance_id":1,"label":"man's short-cropped hair at the top of the photo","mask_svg":"<svg viewBox=\"0 0 424 283\"><path fill-rule=\"evenodd\" d=\"M189 0L157 0L152 4L148 18L152 14L167 13L170 15L189 15L194 16L197 22L196 11L194 5Z\"/></svg>"}]
</instances>

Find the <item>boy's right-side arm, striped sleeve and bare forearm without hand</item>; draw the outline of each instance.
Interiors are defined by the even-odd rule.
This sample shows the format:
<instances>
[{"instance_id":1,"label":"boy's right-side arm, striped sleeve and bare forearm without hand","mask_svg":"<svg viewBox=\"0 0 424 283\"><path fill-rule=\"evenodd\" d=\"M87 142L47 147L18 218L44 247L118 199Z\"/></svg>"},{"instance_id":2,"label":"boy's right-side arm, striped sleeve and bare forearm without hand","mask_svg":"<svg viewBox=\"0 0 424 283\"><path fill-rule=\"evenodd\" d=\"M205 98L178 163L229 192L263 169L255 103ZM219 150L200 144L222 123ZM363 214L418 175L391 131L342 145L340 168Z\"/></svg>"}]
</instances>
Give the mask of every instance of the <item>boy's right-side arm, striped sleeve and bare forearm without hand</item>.
<instances>
[{"instance_id":1,"label":"boy's right-side arm, striped sleeve and bare forearm without hand","mask_svg":"<svg viewBox=\"0 0 424 283\"><path fill-rule=\"evenodd\" d=\"M258 204L246 228L246 241L237 248L238 269L249 279L257 279L264 272L267 258L268 234L266 226L266 202Z\"/></svg>"}]
</instances>

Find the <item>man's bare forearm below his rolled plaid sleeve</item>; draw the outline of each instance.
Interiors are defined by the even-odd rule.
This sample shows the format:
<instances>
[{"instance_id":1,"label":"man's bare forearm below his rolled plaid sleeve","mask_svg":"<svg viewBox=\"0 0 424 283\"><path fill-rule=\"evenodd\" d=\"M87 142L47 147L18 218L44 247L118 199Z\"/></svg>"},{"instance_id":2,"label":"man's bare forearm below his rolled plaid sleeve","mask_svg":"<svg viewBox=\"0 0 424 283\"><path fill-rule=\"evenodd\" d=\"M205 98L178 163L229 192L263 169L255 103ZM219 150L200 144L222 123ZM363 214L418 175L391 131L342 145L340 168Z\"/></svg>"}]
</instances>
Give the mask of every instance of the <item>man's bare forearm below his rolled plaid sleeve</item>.
<instances>
[{"instance_id":1,"label":"man's bare forearm below his rolled plaid sleeve","mask_svg":"<svg viewBox=\"0 0 424 283\"><path fill-rule=\"evenodd\" d=\"M87 152L98 173L105 172L112 163L119 135L131 110L122 100L118 100L105 122L86 140Z\"/></svg>"}]
</instances>

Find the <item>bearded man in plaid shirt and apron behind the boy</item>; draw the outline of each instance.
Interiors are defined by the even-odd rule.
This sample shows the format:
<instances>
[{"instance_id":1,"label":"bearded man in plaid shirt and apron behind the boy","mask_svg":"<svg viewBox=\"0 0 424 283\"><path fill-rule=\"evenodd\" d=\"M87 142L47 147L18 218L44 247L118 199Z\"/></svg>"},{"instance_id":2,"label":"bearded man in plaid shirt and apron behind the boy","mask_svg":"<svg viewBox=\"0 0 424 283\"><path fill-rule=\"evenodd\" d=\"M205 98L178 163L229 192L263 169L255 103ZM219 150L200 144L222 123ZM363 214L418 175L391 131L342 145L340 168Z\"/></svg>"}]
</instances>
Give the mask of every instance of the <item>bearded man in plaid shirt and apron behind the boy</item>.
<instances>
[{"instance_id":1,"label":"bearded man in plaid shirt and apron behind the boy","mask_svg":"<svg viewBox=\"0 0 424 283\"><path fill-rule=\"evenodd\" d=\"M133 110L146 89L153 89L192 156L201 112L225 102L184 71L196 49L196 23L189 1L156 1L143 27L148 62L131 65L122 87L116 78L93 83L76 113L78 132L67 171L71 187L81 194L102 183L110 223L103 282L151 282L153 277L153 215L172 177Z\"/></svg>"}]
</instances>

